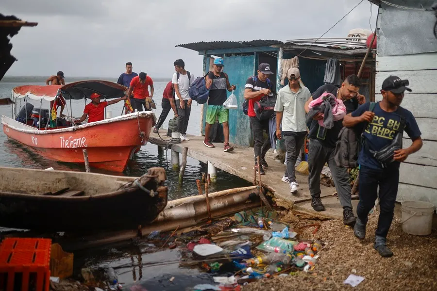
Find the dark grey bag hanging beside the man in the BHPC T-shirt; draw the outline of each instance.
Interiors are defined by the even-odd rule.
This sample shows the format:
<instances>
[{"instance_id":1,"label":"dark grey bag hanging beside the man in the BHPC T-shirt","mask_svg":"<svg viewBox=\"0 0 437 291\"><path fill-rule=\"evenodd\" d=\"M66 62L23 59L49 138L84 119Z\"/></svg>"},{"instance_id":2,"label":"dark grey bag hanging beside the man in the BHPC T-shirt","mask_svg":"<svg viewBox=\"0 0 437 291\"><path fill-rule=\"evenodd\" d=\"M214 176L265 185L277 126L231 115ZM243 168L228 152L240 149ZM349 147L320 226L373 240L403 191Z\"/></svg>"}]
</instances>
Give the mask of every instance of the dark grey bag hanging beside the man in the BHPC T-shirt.
<instances>
[{"instance_id":1,"label":"dark grey bag hanging beside the man in the BHPC T-shirt","mask_svg":"<svg viewBox=\"0 0 437 291\"><path fill-rule=\"evenodd\" d=\"M375 102L370 102L369 111L375 109ZM367 123L364 126L366 129ZM358 154L361 149L361 136L357 136L354 128L343 127L338 134L334 160L338 167L356 168L358 166Z\"/></svg>"}]
</instances>

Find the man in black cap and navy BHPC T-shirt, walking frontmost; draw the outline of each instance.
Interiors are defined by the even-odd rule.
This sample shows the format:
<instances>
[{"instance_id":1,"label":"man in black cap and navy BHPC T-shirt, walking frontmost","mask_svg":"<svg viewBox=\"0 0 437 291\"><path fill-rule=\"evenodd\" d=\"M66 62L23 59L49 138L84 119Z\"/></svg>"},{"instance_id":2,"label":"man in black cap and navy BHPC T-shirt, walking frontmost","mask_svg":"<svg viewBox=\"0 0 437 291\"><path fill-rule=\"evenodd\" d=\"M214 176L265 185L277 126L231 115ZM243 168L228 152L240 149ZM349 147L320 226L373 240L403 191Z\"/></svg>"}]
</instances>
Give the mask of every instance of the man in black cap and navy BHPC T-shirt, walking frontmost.
<instances>
[{"instance_id":1,"label":"man in black cap and navy BHPC T-shirt, walking frontmost","mask_svg":"<svg viewBox=\"0 0 437 291\"><path fill-rule=\"evenodd\" d=\"M343 120L343 125L346 127L367 123L363 134L364 146L358 157L360 201L356 209L358 218L353 233L360 240L365 238L367 215L379 196L381 211L373 247L382 257L393 255L386 241L398 194L400 163L422 147L421 132L416 119L410 111L400 106L405 90L411 92L411 89L406 87L408 83L408 80L401 80L396 76L388 77L382 84L383 100L376 103L373 111L369 111L370 103L368 102L359 106L353 113L346 115ZM402 137L403 130L413 143L407 148L402 148L402 144L398 145L400 149L393 150L389 162L382 162L377 155L371 153L376 154L387 146L392 146L393 139L398 132Z\"/></svg>"}]
</instances>

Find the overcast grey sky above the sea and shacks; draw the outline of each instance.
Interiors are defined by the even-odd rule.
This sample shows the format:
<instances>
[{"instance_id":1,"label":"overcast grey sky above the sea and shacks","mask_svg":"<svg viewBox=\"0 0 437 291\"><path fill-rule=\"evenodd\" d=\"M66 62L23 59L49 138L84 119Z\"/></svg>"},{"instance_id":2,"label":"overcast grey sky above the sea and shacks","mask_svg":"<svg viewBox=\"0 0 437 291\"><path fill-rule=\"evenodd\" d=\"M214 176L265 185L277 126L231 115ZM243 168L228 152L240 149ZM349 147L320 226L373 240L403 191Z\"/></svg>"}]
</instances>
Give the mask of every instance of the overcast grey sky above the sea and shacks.
<instances>
[{"instance_id":1,"label":"overcast grey sky above the sea and shacks","mask_svg":"<svg viewBox=\"0 0 437 291\"><path fill-rule=\"evenodd\" d=\"M118 77L132 62L135 72L169 77L178 58L199 76L202 57L176 45L319 37L359 1L1 0L0 13L38 22L12 38L18 61L7 76ZM374 29L377 11L364 0L324 37L370 29L369 20Z\"/></svg>"}]
</instances>

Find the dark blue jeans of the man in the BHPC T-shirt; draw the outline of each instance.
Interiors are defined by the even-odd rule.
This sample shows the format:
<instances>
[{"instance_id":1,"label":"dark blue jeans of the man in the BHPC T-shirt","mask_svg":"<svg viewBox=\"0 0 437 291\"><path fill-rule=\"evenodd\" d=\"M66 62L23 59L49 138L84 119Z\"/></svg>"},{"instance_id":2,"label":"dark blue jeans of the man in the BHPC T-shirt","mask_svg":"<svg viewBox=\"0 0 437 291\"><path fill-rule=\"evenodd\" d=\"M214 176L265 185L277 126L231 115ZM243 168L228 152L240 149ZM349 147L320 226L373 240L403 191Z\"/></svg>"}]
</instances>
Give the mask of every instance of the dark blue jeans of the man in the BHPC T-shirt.
<instances>
[{"instance_id":1,"label":"dark blue jeans of the man in the BHPC T-shirt","mask_svg":"<svg viewBox=\"0 0 437 291\"><path fill-rule=\"evenodd\" d=\"M367 215L375 206L378 197L377 187L379 185L379 219L376 235L387 238L388 229L393 220L396 195L399 185L399 163L389 165L385 169L375 170L368 167L360 167L359 196L360 202L356 209L358 218L367 223Z\"/></svg>"}]
</instances>

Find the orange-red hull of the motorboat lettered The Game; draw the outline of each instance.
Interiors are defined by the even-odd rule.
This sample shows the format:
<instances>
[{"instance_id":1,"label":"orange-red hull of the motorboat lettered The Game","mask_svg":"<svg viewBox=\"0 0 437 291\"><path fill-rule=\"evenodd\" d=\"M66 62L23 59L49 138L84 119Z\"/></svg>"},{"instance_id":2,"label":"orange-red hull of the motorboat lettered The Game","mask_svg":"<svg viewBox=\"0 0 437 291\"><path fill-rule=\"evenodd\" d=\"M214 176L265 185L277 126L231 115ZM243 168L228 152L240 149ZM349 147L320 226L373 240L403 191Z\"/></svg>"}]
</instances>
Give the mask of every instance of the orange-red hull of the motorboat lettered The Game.
<instances>
[{"instance_id":1,"label":"orange-red hull of the motorboat lettered The Game","mask_svg":"<svg viewBox=\"0 0 437 291\"><path fill-rule=\"evenodd\" d=\"M58 162L84 163L83 149L91 167L123 172L135 151L147 144L153 113L132 113L66 129L38 130L2 117L8 138L32 147L43 157Z\"/></svg>"}]
</instances>

